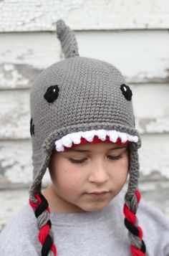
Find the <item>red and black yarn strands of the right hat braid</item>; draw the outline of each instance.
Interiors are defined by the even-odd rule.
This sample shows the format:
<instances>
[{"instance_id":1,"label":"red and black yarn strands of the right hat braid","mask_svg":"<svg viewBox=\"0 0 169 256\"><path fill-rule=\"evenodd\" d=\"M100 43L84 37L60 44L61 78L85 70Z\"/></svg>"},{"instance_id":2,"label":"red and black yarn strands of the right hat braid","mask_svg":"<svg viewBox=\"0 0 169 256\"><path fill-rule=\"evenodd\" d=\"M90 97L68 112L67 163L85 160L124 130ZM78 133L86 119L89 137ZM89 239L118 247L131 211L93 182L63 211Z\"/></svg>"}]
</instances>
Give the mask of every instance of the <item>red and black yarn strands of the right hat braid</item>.
<instances>
[{"instance_id":1,"label":"red and black yarn strands of the right hat braid","mask_svg":"<svg viewBox=\"0 0 169 256\"><path fill-rule=\"evenodd\" d=\"M141 194L138 189L135 190L135 195L137 197L137 203L139 204ZM140 240L142 241L142 246L140 249L135 247L134 245L130 245L130 250L132 252L132 256L146 256L145 242L142 240L143 230L139 226L136 227L136 222L137 222L136 215L129 209L129 207L127 207L127 204L124 204L123 213L125 214L125 227L127 227L127 229L132 234L139 237Z\"/></svg>"}]
</instances>

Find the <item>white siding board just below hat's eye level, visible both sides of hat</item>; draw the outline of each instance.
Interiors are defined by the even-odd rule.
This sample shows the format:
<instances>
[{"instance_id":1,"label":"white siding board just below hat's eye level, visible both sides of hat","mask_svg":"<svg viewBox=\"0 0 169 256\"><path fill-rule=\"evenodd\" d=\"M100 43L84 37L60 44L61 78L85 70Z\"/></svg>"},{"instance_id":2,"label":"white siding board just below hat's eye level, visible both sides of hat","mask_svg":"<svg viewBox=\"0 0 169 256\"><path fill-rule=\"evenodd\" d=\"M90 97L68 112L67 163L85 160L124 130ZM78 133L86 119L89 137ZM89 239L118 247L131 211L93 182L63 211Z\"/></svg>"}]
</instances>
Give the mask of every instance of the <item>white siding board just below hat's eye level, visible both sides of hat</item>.
<instances>
[{"instance_id":1,"label":"white siding board just below hat's eye level, visible both sides of hat","mask_svg":"<svg viewBox=\"0 0 169 256\"><path fill-rule=\"evenodd\" d=\"M129 84L130 85L130 84ZM140 133L169 132L169 86L130 85L135 123ZM1 90L0 139L30 138L30 90Z\"/></svg>"}]
</instances>

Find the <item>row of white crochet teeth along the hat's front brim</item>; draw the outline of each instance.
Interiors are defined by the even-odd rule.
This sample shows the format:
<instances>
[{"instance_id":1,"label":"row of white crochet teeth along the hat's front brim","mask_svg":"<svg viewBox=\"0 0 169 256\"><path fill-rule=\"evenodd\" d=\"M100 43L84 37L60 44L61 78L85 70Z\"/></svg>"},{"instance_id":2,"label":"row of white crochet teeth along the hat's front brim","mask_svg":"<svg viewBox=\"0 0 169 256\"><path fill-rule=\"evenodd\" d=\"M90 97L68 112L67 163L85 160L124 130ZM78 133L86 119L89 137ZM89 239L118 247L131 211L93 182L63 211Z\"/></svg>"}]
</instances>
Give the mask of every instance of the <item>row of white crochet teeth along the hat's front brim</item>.
<instances>
[{"instance_id":1,"label":"row of white crochet teeth along the hat's front brim","mask_svg":"<svg viewBox=\"0 0 169 256\"><path fill-rule=\"evenodd\" d=\"M79 144L81 141L81 137L85 138L87 141L92 142L93 138L97 136L100 138L100 140L105 141L106 136L110 137L110 141L113 143L116 143L117 138L120 138L122 143L125 143L126 141L130 142L137 142L138 137L132 136L128 133L121 133L119 131L107 131L107 130L92 130L92 131L79 131L77 133L69 133L62 138L60 138L58 141L55 141L55 148L57 151L64 151L64 146L66 147L72 147L72 143Z\"/></svg>"}]
</instances>

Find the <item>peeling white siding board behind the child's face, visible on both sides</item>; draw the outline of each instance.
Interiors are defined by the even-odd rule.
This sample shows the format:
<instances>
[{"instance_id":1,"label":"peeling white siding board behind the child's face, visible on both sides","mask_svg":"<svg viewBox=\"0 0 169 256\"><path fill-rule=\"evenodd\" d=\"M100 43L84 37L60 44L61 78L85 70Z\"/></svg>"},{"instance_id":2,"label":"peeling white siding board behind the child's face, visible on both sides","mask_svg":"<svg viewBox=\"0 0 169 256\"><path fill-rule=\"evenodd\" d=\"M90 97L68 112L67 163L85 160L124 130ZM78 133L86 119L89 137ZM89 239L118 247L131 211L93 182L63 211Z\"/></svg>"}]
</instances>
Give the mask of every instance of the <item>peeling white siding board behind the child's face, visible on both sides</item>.
<instances>
[{"instance_id":1,"label":"peeling white siding board behind the child's face, visible on both sides","mask_svg":"<svg viewBox=\"0 0 169 256\"><path fill-rule=\"evenodd\" d=\"M142 135L143 145L139 149L140 181L154 184L169 179L169 134ZM29 187L32 182L32 146L30 140L1 141L0 145L0 189ZM43 184L49 184L47 171ZM152 184L153 184L152 183ZM150 188L145 187L145 191ZM153 189L155 186L153 185Z\"/></svg>"}]
</instances>

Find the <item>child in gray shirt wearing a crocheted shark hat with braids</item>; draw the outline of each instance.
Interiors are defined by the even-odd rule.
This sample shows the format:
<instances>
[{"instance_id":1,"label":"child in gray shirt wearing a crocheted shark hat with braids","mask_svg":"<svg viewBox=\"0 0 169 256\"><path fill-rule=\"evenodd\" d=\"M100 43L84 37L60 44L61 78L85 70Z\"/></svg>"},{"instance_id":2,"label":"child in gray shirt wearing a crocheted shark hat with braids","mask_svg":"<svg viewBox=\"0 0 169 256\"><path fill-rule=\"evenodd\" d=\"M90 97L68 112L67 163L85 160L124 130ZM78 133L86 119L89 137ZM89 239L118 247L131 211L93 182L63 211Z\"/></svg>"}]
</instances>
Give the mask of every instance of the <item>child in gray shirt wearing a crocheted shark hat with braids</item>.
<instances>
[{"instance_id":1,"label":"child in gray shirt wearing a crocheted shark hat with braids","mask_svg":"<svg viewBox=\"0 0 169 256\"><path fill-rule=\"evenodd\" d=\"M65 60L31 88L29 204L1 232L1 255L169 255L168 219L140 202L130 87L110 63L79 57L63 20L57 37ZM52 184L42 191L47 167Z\"/></svg>"}]
</instances>

